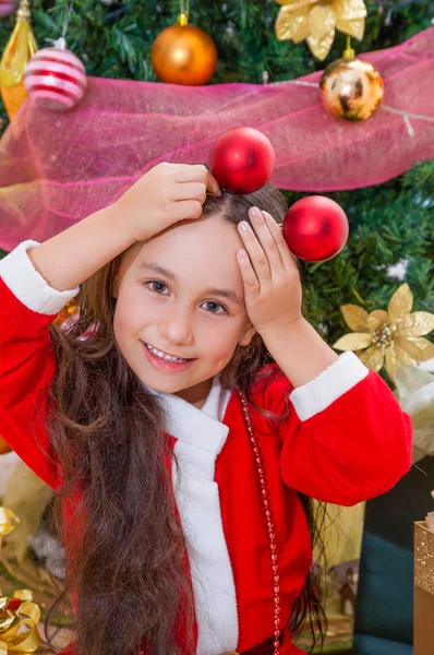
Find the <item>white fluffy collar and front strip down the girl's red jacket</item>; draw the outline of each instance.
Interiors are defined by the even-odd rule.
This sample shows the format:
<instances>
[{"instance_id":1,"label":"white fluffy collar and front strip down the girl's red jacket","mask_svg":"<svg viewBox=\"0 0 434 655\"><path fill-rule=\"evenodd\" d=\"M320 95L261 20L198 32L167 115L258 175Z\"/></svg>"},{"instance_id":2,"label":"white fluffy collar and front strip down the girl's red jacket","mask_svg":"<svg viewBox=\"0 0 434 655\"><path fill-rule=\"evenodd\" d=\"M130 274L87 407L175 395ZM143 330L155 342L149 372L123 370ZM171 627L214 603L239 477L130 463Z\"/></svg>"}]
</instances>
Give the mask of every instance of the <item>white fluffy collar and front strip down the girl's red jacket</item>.
<instances>
[{"instance_id":1,"label":"white fluffy collar and front strip down the girl's red jacket","mask_svg":"<svg viewBox=\"0 0 434 655\"><path fill-rule=\"evenodd\" d=\"M179 471L172 483L188 544L198 628L196 655L221 655L238 645L239 624L232 567L225 539L216 458L228 437L221 422L230 398L218 377L201 409L173 394L158 395L167 412L167 431L177 438Z\"/></svg>"}]
</instances>

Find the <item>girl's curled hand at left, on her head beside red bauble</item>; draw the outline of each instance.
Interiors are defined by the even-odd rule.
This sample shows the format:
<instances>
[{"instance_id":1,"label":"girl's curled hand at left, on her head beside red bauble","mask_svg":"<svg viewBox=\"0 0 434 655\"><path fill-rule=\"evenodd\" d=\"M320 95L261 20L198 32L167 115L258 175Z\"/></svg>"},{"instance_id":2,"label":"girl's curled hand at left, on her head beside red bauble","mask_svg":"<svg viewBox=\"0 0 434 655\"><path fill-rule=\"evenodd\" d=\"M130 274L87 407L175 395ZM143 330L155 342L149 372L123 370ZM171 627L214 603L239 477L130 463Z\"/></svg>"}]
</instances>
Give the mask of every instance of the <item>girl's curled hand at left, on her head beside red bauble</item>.
<instances>
[{"instance_id":1,"label":"girl's curled hand at left, on her head beside red bauble","mask_svg":"<svg viewBox=\"0 0 434 655\"><path fill-rule=\"evenodd\" d=\"M202 164L164 162L148 170L114 202L131 236L144 241L179 221L198 218L206 192L220 195L215 177Z\"/></svg>"}]
</instances>

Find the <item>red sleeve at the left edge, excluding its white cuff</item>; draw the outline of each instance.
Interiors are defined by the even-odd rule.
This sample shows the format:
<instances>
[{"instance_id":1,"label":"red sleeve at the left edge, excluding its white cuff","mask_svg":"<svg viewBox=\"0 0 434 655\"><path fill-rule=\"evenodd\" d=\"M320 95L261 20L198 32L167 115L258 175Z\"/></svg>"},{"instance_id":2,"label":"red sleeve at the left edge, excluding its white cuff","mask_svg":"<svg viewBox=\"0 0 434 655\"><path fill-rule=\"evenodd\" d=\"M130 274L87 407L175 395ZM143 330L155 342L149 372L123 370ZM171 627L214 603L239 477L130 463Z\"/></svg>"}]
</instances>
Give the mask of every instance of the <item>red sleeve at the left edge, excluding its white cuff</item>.
<instances>
[{"instance_id":1,"label":"red sleeve at the left edge, excluding its white cuff","mask_svg":"<svg viewBox=\"0 0 434 655\"><path fill-rule=\"evenodd\" d=\"M44 417L56 372L48 330L56 315L28 309L0 277L0 432L52 488L59 486L60 475Z\"/></svg>"}]
</instances>

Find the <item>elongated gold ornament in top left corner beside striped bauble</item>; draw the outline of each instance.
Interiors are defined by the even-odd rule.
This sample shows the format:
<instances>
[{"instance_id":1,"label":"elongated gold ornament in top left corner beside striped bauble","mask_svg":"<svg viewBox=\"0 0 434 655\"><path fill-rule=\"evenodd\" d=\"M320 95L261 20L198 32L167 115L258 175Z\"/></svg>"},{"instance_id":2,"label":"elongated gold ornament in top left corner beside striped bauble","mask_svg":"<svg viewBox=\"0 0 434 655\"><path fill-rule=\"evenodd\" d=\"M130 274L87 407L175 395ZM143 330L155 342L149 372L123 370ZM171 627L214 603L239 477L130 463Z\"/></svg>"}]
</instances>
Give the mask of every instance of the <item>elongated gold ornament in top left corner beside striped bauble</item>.
<instances>
[{"instance_id":1,"label":"elongated gold ornament in top left corner beside striped bauble","mask_svg":"<svg viewBox=\"0 0 434 655\"><path fill-rule=\"evenodd\" d=\"M31 27L31 5L21 0L15 27L0 61L0 91L4 107L12 120L27 97L24 87L24 69L37 50Z\"/></svg>"}]
</instances>

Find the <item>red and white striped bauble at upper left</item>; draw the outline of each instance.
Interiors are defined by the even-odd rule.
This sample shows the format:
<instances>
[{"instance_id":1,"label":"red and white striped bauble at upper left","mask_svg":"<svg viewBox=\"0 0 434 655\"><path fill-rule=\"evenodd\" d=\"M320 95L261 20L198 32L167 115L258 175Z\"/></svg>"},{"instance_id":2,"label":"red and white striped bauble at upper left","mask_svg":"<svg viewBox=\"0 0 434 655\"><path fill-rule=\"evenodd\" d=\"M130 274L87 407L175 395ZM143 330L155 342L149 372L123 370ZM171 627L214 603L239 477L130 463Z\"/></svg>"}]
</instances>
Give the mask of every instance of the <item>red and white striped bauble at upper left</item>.
<instances>
[{"instance_id":1,"label":"red and white striped bauble at upper left","mask_svg":"<svg viewBox=\"0 0 434 655\"><path fill-rule=\"evenodd\" d=\"M60 38L52 48L35 52L24 71L24 86L44 108L68 111L84 96L86 70Z\"/></svg>"}]
</instances>

